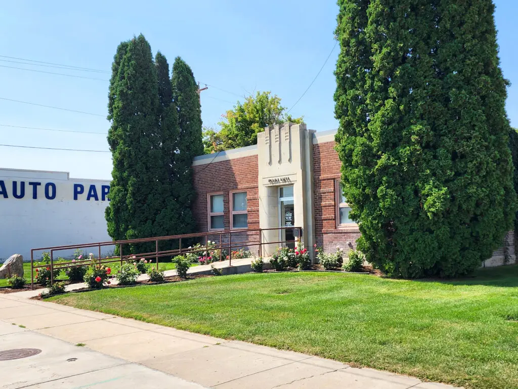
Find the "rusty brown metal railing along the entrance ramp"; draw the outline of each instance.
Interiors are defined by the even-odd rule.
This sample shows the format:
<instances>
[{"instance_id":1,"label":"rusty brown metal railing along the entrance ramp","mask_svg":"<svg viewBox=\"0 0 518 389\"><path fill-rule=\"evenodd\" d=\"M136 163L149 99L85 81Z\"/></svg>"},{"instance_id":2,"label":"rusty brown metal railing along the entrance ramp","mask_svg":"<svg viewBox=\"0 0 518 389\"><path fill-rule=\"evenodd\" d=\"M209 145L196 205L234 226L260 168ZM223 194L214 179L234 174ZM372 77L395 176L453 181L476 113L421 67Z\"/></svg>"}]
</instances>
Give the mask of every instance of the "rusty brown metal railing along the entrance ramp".
<instances>
[{"instance_id":1,"label":"rusty brown metal railing along the entrance ramp","mask_svg":"<svg viewBox=\"0 0 518 389\"><path fill-rule=\"evenodd\" d=\"M293 230L294 240L279 240L279 241L264 241L263 233L264 231L282 231L282 230ZM297 233L295 233L297 232ZM233 241L232 235L234 237L246 237L249 238L254 233L258 235L258 239L256 240L240 240ZM281 235L279 233L279 235ZM154 238L142 238L142 239L129 239L129 240L121 240L121 241L107 241L107 242L94 242L94 243L84 243L84 244L71 244L65 246L51 246L51 247L38 247L31 249L31 289L34 289L34 271L35 269L48 268L50 270L50 284L54 283L54 272L69 268L75 268L80 266L88 266L91 263L90 259L81 259L81 260L69 260L69 261L59 261L55 262L55 252L64 251L64 250L73 250L73 249L81 249L81 248L97 248L97 259L95 260L96 265L105 265L106 263L114 263L119 262L122 266L124 261L133 261L135 260L135 256L138 258L149 258L154 257L156 261L156 269L159 269L159 258L161 257L175 257L182 254L188 253L198 253L198 252L206 252L212 250L219 250L219 259L222 260L222 252L225 249L228 249L228 265L232 266L232 249L240 248L240 247L255 247L258 246L258 255L260 257L263 256L263 246L266 244L286 244L295 242L298 237L302 235L301 227L277 227L277 228L254 228L254 229L243 229L243 230L221 230L221 231L208 231L208 232L198 232L191 234L182 234L182 235L169 235L167 237L154 237ZM281 235L282 236L282 235ZM219 237L218 244L213 244L209 246L209 237ZM228 237L228 241L225 241L226 237ZM196 239L205 240L204 246L197 247L182 247L183 242L189 241L193 242ZM178 241L178 248L172 248L160 251L159 250L159 242L165 241ZM131 253L124 254L124 246L126 245L134 245L138 243L155 243L155 250L146 253ZM198 242L199 243L199 242ZM101 256L101 248L106 246L119 246L119 255L118 256ZM34 253L35 252L48 252L50 255L50 263L45 263L43 265L35 265L34 262Z\"/></svg>"}]
</instances>

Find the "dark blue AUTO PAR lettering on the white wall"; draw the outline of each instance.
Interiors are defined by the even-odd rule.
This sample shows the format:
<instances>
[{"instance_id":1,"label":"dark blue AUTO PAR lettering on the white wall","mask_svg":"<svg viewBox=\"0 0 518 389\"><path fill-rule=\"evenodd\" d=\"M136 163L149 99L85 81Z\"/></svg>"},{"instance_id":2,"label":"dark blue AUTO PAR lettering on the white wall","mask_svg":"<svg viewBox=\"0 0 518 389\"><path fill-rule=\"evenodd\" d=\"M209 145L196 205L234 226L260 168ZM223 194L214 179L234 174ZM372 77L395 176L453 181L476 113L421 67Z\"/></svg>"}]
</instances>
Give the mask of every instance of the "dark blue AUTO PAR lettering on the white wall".
<instances>
[{"instance_id":1,"label":"dark blue AUTO PAR lettering on the white wall","mask_svg":"<svg viewBox=\"0 0 518 389\"><path fill-rule=\"evenodd\" d=\"M110 201L108 193L109 185L83 185L83 184L67 184L71 185L74 200L87 201ZM62 185L59 186L62 188ZM0 179L0 201L2 199L47 199L54 200L64 198L63 193L58 193L56 184L52 182L42 183L41 181L6 181ZM67 190L70 192L70 189ZM68 194L66 193L66 194Z\"/></svg>"}]
</instances>

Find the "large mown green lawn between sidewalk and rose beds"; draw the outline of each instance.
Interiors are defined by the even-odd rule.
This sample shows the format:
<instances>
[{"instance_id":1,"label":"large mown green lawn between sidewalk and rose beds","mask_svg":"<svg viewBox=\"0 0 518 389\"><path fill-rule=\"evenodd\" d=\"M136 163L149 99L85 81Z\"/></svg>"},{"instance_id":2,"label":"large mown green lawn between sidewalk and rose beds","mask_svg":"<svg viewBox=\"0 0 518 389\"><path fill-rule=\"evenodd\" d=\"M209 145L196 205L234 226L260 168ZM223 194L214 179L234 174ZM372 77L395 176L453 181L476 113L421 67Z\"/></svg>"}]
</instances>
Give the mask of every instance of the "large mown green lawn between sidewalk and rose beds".
<instances>
[{"instance_id":1,"label":"large mown green lawn between sidewalk and rose beds","mask_svg":"<svg viewBox=\"0 0 518 389\"><path fill-rule=\"evenodd\" d=\"M518 388L518 266L457 281L259 273L56 296L73 307L470 388Z\"/></svg>"}]
</instances>

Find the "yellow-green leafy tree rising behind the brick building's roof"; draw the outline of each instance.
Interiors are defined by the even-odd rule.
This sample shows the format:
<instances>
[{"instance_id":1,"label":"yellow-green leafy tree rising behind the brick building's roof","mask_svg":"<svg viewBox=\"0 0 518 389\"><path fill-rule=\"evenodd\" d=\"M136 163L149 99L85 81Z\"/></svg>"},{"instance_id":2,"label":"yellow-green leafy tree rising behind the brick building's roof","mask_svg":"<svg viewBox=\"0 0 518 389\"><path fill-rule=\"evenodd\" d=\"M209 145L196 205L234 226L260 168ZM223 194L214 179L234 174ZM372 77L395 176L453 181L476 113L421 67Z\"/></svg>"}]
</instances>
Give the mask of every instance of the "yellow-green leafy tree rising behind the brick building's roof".
<instances>
[{"instance_id":1,"label":"yellow-green leafy tree rising behind the brick building's roof","mask_svg":"<svg viewBox=\"0 0 518 389\"><path fill-rule=\"evenodd\" d=\"M285 110L281 99L277 95L272 96L271 92L256 92L255 96L248 96L243 104L237 102L234 109L223 115L223 120L218 123L220 131L205 130L205 153L256 145L257 134L265 127L287 121L303 122L302 117L292 118Z\"/></svg>"}]
</instances>

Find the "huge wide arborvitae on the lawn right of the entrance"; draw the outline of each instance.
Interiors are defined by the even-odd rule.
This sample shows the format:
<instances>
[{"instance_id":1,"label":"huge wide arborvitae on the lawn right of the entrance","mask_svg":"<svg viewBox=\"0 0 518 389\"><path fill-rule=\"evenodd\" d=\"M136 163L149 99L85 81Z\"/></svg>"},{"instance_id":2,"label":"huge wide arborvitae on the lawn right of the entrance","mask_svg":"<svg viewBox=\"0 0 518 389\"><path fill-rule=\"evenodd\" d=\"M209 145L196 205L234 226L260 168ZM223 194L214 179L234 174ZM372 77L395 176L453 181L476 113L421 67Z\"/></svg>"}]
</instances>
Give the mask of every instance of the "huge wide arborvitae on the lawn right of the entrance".
<instances>
[{"instance_id":1,"label":"huge wide arborvitae on the lawn right of the entrance","mask_svg":"<svg viewBox=\"0 0 518 389\"><path fill-rule=\"evenodd\" d=\"M512 229L515 193L491 0L339 0L344 195L369 262L456 276Z\"/></svg>"}]
</instances>

